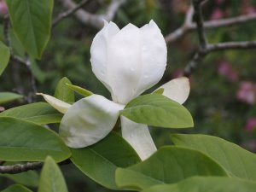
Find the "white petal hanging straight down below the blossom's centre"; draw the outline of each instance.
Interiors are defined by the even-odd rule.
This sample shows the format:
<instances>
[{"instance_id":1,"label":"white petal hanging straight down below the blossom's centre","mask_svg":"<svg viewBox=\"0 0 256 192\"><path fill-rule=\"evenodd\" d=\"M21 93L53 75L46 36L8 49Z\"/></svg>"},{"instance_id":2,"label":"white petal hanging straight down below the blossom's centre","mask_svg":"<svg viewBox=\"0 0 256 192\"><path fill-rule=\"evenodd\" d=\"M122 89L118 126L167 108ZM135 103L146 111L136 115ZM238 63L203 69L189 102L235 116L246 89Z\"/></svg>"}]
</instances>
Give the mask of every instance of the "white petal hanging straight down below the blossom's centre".
<instances>
[{"instance_id":1,"label":"white petal hanging straight down below the blossom's centre","mask_svg":"<svg viewBox=\"0 0 256 192\"><path fill-rule=\"evenodd\" d=\"M122 136L137 151L142 160L154 154L157 149L147 125L137 124L124 116L121 116L121 125Z\"/></svg>"}]
</instances>

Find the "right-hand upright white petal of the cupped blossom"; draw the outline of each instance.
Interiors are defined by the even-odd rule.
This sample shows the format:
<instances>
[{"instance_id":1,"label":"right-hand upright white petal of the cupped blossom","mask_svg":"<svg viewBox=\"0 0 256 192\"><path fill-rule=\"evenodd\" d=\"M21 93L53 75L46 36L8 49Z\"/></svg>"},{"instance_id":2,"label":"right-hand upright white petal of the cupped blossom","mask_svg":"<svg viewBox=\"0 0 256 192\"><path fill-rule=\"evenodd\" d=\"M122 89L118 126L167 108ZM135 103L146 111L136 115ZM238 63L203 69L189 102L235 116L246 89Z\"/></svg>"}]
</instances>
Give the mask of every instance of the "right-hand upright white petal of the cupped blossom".
<instances>
[{"instance_id":1,"label":"right-hand upright white petal of the cupped blossom","mask_svg":"<svg viewBox=\"0 0 256 192\"><path fill-rule=\"evenodd\" d=\"M144 90L157 84L166 70L167 48L165 38L160 32L159 27L153 20L148 25L143 26L142 30L142 73L137 92L143 93Z\"/></svg>"}]
</instances>

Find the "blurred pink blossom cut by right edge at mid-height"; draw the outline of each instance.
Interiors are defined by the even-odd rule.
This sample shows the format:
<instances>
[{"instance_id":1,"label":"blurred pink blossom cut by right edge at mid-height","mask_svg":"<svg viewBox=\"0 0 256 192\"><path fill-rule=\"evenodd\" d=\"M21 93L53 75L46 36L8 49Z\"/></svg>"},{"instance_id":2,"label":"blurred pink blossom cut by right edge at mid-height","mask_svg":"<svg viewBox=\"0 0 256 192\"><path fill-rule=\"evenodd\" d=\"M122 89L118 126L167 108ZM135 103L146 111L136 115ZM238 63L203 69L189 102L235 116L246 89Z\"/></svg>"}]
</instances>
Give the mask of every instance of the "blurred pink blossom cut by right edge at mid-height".
<instances>
[{"instance_id":1,"label":"blurred pink blossom cut by right edge at mid-height","mask_svg":"<svg viewBox=\"0 0 256 192\"><path fill-rule=\"evenodd\" d=\"M256 102L256 84L250 81L243 81L236 91L236 98L241 102L253 105Z\"/></svg>"}]
</instances>

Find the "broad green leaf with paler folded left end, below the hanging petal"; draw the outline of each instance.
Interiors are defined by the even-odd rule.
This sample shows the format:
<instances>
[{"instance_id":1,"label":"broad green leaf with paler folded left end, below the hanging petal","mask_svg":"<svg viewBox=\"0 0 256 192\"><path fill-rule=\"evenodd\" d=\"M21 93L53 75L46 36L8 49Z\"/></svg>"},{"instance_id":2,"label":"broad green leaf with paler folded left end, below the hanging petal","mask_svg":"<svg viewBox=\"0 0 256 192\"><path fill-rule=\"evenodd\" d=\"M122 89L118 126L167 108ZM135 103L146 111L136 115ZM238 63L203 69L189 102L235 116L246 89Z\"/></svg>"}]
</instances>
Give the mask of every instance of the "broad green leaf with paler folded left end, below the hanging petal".
<instances>
[{"instance_id":1,"label":"broad green leaf with paler folded left end, below the hanging petal","mask_svg":"<svg viewBox=\"0 0 256 192\"><path fill-rule=\"evenodd\" d=\"M214 160L189 148L164 147L137 165L116 170L116 183L125 189L147 189L177 183L192 176L227 176Z\"/></svg>"}]
</instances>

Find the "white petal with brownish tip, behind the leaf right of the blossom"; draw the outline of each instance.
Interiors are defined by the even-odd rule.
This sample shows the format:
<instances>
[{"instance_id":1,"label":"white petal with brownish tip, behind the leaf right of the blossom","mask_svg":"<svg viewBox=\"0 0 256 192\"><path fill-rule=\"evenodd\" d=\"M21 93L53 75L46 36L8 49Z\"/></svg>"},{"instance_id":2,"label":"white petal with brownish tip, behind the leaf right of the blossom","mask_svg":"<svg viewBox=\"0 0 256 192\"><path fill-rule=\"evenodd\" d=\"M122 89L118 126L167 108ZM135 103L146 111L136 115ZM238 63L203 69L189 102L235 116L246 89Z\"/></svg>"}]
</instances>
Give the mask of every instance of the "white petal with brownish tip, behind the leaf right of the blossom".
<instances>
[{"instance_id":1,"label":"white petal with brownish tip, behind the leaf right of the blossom","mask_svg":"<svg viewBox=\"0 0 256 192\"><path fill-rule=\"evenodd\" d=\"M189 96L189 79L185 77L172 79L166 84L160 86L160 88L164 88L164 96L169 97L175 102L183 104L183 102L185 102ZM159 90L160 88L158 88L157 90Z\"/></svg>"}]
</instances>

